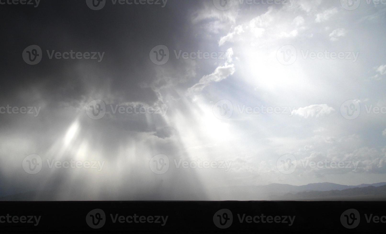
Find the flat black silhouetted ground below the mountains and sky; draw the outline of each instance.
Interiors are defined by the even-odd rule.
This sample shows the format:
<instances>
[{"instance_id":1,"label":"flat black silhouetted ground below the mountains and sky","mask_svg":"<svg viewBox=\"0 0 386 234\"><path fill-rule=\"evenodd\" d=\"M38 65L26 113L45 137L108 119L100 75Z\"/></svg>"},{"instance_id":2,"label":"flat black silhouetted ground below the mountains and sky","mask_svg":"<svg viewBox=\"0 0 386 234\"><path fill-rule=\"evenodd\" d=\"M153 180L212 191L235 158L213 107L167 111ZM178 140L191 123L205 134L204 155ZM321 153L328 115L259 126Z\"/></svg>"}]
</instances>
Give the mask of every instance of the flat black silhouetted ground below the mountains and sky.
<instances>
[{"instance_id":1,"label":"flat black silhouetted ground below the mountains and sky","mask_svg":"<svg viewBox=\"0 0 386 234\"><path fill-rule=\"evenodd\" d=\"M1 233L381 233L386 202L0 202Z\"/></svg>"}]
</instances>

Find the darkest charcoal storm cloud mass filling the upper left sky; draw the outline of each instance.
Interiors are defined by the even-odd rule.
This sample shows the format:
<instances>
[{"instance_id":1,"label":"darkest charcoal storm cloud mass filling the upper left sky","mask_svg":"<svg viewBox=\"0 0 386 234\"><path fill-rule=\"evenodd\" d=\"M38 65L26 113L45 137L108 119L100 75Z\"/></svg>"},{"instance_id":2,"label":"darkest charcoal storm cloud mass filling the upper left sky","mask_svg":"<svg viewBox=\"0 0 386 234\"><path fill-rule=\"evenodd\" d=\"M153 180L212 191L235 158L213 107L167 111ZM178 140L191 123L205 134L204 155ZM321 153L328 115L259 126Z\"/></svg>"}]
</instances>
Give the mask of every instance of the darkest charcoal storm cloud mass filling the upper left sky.
<instances>
[{"instance_id":1,"label":"darkest charcoal storm cloud mass filling the upper left sky","mask_svg":"<svg viewBox=\"0 0 386 234\"><path fill-rule=\"evenodd\" d=\"M7 68L0 71L2 99L16 101L15 91L36 87L52 106L82 100L92 90L110 93L117 101L152 103L157 96L146 84L155 79L156 65L149 60L149 52L159 44L186 41L186 15L196 5L195 1L169 0L162 8L108 1L98 11L83 0L42 0L36 8L2 5L0 61ZM29 45L42 48L43 58L37 65L22 60ZM46 50L105 54L101 62L58 60L49 59Z\"/></svg>"}]
</instances>

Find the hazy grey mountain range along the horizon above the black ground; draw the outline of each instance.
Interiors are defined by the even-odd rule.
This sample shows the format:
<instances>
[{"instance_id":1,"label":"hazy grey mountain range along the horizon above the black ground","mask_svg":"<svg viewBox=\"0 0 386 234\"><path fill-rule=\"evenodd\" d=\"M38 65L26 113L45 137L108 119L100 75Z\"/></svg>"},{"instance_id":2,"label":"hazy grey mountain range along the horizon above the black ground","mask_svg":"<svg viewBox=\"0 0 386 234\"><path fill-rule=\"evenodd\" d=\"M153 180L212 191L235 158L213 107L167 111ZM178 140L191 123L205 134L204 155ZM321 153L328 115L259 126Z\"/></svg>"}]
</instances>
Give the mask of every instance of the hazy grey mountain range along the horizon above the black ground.
<instances>
[{"instance_id":1,"label":"hazy grey mountain range along the horizon above the black ground","mask_svg":"<svg viewBox=\"0 0 386 234\"><path fill-rule=\"evenodd\" d=\"M0 201L55 201L64 191L31 191L0 197ZM209 191L220 201L386 201L386 182L347 186L333 183L315 183L302 186L268 184L263 186L230 186ZM106 196L107 200L112 199ZM138 199L138 198L136 198ZM136 200L134 199L134 200ZM143 198L142 198L143 199ZM86 201L87 196L73 194L69 201ZM119 200L132 200L120 197ZM148 200L148 199L147 199ZM204 197L202 200L206 200Z\"/></svg>"}]
</instances>

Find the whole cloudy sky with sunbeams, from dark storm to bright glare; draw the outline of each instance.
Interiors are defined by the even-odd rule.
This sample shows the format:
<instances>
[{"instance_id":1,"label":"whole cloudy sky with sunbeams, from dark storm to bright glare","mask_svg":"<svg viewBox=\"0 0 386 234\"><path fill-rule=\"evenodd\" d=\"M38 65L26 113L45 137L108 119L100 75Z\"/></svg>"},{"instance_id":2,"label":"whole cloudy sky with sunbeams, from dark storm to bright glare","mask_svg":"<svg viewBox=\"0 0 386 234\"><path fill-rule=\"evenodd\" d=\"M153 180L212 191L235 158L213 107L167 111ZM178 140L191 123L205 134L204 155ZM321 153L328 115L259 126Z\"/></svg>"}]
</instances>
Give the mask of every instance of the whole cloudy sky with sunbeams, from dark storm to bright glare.
<instances>
[{"instance_id":1,"label":"whole cloudy sky with sunbeams, from dark storm to bright glare","mask_svg":"<svg viewBox=\"0 0 386 234\"><path fill-rule=\"evenodd\" d=\"M386 181L386 2L139 2L0 5L0 196Z\"/></svg>"}]
</instances>

